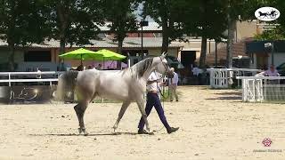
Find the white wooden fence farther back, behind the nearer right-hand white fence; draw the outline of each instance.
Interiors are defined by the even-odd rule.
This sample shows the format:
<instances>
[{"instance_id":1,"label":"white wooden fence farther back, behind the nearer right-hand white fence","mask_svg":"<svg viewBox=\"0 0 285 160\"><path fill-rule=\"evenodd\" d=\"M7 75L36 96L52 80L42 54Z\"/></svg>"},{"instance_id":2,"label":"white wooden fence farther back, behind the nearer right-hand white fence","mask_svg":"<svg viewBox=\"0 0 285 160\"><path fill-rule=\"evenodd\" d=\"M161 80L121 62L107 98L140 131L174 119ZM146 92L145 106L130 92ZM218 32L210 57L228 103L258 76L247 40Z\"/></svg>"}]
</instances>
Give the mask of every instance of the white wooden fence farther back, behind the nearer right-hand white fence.
<instances>
[{"instance_id":1,"label":"white wooden fence farther back, behind the nearer right-hand white fence","mask_svg":"<svg viewBox=\"0 0 285 160\"><path fill-rule=\"evenodd\" d=\"M253 76L259 69L248 68L208 68L211 88L228 88L234 76ZM238 85L240 82L238 81Z\"/></svg>"}]
</instances>

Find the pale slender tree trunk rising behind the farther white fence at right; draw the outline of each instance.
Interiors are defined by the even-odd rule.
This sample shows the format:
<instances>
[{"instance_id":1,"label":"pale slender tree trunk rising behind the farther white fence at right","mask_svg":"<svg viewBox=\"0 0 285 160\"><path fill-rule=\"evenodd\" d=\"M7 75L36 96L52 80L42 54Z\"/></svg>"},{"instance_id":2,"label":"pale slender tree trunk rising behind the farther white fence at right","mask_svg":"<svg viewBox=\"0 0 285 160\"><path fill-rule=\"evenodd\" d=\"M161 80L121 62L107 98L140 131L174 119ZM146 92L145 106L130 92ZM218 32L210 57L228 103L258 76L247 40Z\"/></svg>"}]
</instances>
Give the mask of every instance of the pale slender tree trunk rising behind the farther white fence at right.
<instances>
[{"instance_id":1,"label":"pale slender tree trunk rising behind the farther white fence at right","mask_svg":"<svg viewBox=\"0 0 285 160\"><path fill-rule=\"evenodd\" d=\"M232 68L232 44L235 31L235 20L233 20L228 13L228 39L226 41L226 63L227 68Z\"/></svg>"}]
</instances>

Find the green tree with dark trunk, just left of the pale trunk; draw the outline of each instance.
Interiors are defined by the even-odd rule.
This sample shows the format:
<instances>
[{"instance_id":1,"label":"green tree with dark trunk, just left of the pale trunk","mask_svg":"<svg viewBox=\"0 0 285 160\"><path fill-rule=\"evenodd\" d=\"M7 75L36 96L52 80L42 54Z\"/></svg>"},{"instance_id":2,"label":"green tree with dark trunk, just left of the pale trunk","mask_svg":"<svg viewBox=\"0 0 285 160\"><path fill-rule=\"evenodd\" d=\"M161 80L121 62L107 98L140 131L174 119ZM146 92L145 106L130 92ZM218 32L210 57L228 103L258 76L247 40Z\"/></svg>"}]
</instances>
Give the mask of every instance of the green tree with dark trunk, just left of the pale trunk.
<instances>
[{"instance_id":1,"label":"green tree with dark trunk, just left of the pale trunk","mask_svg":"<svg viewBox=\"0 0 285 160\"><path fill-rule=\"evenodd\" d=\"M181 16L183 29L190 36L201 37L199 68L205 68L207 39L215 39L220 42L224 38L223 33L226 29L224 5L221 1L216 0L183 1L182 10L184 13Z\"/></svg>"}]
</instances>

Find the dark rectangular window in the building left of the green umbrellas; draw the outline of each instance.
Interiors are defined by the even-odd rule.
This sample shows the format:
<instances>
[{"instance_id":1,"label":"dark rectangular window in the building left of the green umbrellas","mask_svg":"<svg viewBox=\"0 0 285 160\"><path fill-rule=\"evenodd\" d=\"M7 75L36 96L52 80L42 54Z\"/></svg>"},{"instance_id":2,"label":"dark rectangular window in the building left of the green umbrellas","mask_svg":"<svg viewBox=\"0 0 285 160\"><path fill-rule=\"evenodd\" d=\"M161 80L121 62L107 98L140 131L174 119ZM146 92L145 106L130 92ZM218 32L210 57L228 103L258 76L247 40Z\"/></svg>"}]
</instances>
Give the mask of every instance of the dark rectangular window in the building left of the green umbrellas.
<instances>
[{"instance_id":1,"label":"dark rectangular window in the building left of the green umbrellas","mask_svg":"<svg viewBox=\"0 0 285 160\"><path fill-rule=\"evenodd\" d=\"M24 53L24 61L51 61L50 51L28 51Z\"/></svg>"}]
</instances>

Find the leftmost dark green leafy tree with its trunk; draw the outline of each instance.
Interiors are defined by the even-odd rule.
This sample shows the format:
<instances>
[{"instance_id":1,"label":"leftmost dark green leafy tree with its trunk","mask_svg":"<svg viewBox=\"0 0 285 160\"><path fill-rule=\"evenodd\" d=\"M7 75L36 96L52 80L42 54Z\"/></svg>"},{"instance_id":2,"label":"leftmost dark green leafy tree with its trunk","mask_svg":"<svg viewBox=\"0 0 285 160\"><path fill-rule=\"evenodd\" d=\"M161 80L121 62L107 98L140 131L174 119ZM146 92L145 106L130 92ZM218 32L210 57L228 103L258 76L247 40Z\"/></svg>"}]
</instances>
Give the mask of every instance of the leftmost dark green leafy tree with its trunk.
<instances>
[{"instance_id":1,"label":"leftmost dark green leafy tree with its trunk","mask_svg":"<svg viewBox=\"0 0 285 160\"><path fill-rule=\"evenodd\" d=\"M47 34L40 3L36 0L0 1L0 38L8 44L11 71L14 70L15 47L42 42Z\"/></svg>"}]
</instances>

